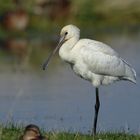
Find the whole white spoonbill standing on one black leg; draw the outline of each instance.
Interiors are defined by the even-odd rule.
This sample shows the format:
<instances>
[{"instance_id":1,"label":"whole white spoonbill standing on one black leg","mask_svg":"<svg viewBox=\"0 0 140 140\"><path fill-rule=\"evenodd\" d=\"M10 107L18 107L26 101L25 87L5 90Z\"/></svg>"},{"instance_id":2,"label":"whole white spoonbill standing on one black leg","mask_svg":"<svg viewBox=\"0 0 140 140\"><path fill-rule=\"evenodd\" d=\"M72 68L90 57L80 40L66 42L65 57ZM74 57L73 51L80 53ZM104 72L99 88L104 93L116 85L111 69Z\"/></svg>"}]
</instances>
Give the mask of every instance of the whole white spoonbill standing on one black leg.
<instances>
[{"instance_id":1,"label":"whole white spoonbill standing on one black leg","mask_svg":"<svg viewBox=\"0 0 140 140\"><path fill-rule=\"evenodd\" d=\"M74 25L63 27L60 36L58 46L43 64L43 69L45 70L60 48L61 59L69 63L78 76L93 84L96 89L96 103L92 134L95 135L100 107L99 86L119 80L136 83L136 72L108 45L91 39L79 39L80 30Z\"/></svg>"}]
</instances>

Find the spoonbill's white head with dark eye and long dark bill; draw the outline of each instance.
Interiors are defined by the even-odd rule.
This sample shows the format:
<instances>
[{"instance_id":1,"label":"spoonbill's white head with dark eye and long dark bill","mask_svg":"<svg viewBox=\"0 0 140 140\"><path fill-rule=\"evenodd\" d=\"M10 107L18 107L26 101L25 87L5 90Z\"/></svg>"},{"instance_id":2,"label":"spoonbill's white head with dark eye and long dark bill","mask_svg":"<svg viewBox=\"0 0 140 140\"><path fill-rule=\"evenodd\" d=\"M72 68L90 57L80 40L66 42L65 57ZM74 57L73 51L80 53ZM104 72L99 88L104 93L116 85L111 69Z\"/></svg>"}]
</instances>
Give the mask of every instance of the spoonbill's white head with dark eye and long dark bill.
<instances>
[{"instance_id":1,"label":"spoonbill's white head with dark eye and long dark bill","mask_svg":"<svg viewBox=\"0 0 140 140\"><path fill-rule=\"evenodd\" d=\"M57 52L57 50L62 46L62 44L71 38L79 39L80 36L80 29L77 28L75 25L67 25L64 26L60 32L60 40L54 51L49 55L48 59L43 64L43 70L48 66L51 58Z\"/></svg>"}]
</instances>

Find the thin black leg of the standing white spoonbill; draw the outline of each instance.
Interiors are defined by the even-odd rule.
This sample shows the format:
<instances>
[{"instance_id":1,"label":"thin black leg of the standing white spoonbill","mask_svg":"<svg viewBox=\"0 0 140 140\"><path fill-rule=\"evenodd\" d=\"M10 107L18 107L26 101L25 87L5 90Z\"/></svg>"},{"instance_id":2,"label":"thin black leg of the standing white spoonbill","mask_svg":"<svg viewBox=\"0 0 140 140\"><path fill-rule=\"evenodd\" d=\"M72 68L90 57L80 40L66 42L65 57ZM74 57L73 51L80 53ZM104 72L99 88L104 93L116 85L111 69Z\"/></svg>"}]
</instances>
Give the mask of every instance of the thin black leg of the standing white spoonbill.
<instances>
[{"instance_id":1,"label":"thin black leg of the standing white spoonbill","mask_svg":"<svg viewBox=\"0 0 140 140\"><path fill-rule=\"evenodd\" d=\"M100 100L99 100L99 89L96 88L96 103L95 103L95 116L94 116L94 124L92 134L96 135L96 127L97 127L97 120L98 120L98 112L100 108Z\"/></svg>"}]
</instances>

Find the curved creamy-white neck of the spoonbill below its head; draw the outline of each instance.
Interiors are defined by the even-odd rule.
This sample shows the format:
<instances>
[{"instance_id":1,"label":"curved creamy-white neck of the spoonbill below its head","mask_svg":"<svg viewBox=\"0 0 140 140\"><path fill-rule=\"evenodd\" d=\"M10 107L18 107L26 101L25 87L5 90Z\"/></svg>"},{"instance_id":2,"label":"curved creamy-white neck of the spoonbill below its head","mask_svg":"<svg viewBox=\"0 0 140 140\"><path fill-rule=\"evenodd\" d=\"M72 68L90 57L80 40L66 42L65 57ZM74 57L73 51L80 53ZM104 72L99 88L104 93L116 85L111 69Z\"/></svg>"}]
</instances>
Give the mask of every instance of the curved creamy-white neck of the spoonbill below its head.
<instances>
[{"instance_id":1,"label":"curved creamy-white neck of the spoonbill below its head","mask_svg":"<svg viewBox=\"0 0 140 140\"><path fill-rule=\"evenodd\" d=\"M69 63L73 63L74 58L72 57L72 49L75 46L75 44L78 42L79 37L73 37L69 40L67 40L60 48L59 50L59 56L64 61L67 61Z\"/></svg>"}]
</instances>

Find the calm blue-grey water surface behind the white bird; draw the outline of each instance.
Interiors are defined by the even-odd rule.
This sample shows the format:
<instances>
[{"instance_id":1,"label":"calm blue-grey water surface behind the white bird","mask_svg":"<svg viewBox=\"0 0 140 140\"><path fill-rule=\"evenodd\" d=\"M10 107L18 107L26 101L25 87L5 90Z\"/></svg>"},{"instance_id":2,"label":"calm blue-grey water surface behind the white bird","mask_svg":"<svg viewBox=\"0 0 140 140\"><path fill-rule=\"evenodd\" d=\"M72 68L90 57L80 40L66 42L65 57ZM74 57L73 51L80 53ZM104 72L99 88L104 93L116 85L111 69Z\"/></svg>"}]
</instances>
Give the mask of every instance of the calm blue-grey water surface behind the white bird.
<instances>
[{"instance_id":1,"label":"calm blue-grey water surface behind the white bird","mask_svg":"<svg viewBox=\"0 0 140 140\"><path fill-rule=\"evenodd\" d=\"M136 38L106 39L137 72L137 85L118 82L101 88L99 130L138 132L140 128L140 47ZM41 54L40 54L41 55ZM44 60L44 59L42 59ZM4 64L3 64L4 65ZM55 65L55 68L54 68ZM38 67L40 67L38 65ZM62 61L47 71L1 71L0 122L35 123L46 130L89 132L95 94ZM130 128L130 130L128 130Z\"/></svg>"}]
</instances>

